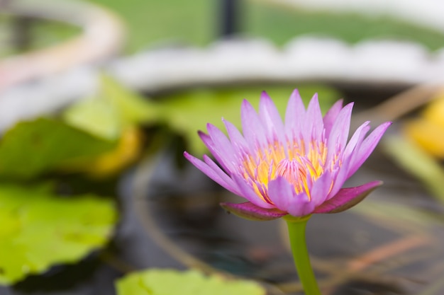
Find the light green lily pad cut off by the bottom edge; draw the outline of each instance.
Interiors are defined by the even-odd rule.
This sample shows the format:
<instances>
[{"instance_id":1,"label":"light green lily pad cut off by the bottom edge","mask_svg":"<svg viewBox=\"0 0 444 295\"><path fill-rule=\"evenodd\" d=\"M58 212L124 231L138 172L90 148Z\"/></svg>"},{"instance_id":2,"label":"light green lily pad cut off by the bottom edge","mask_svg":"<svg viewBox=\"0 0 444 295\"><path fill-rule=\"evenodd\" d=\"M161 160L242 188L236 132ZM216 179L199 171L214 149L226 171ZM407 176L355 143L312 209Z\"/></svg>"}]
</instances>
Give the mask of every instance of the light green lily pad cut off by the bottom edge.
<instances>
[{"instance_id":1,"label":"light green lily pad cut off by the bottom edge","mask_svg":"<svg viewBox=\"0 0 444 295\"><path fill-rule=\"evenodd\" d=\"M116 282L118 295L265 295L259 284L240 279L209 277L196 270L145 270Z\"/></svg>"}]
</instances>

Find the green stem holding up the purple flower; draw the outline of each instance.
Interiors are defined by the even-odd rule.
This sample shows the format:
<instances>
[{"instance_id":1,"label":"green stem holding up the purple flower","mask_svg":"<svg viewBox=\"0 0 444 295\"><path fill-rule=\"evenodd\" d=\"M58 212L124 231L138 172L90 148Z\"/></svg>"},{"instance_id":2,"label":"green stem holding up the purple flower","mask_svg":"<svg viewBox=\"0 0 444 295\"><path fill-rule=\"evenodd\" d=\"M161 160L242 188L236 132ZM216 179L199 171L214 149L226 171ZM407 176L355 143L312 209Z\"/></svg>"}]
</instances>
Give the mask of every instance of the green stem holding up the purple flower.
<instances>
[{"instance_id":1,"label":"green stem holding up the purple flower","mask_svg":"<svg viewBox=\"0 0 444 295\"><path fill-rule=\"evenodd\" d=\"M313 269L311 268L309 252L305 241L305 227L311 215L294 217L284 216L287 221L290 245L294 258L294 265L299 275L299 279L304 287L306 295L321 295L319 291L316 277L314 277Z\"/></svg>"}]
</instances>

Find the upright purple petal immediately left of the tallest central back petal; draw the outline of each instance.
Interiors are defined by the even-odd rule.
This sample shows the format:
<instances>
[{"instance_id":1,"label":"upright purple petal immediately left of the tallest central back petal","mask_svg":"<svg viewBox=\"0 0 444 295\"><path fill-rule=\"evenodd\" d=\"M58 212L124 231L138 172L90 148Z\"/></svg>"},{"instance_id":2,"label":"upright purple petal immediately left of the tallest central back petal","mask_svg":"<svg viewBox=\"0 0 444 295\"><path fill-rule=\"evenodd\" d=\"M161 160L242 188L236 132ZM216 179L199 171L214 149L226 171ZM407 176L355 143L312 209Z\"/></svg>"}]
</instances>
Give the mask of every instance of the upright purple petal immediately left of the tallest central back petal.
<instances>
[{"instance_id":1,"label":"upright purple petal immediately left of the tallest central back petal","mask_svg":"<svg viewBox=\"0 0 444 295\"><path fill-rule=\"evenodd\" d=\"M281 115L279 115L276 105L274 105L272 99L265 91L263 91L260 96L259 116L265 129L268 131L269 139L273 140L274 138L272 138L272 136L274 134L276 134L279 139L284 138L284 123L282 122Z\"/></svg>"}]
</instances>

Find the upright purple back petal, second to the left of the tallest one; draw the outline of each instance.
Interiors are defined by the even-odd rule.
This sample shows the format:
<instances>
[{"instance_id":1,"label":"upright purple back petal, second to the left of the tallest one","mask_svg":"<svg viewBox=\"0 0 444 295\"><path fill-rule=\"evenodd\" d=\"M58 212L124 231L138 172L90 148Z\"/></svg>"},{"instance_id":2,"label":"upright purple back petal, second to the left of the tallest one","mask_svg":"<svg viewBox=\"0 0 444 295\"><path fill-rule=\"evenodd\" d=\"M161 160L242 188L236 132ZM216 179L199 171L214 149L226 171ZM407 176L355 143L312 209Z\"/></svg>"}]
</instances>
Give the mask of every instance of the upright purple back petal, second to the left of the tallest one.
<instances>
[{"instance_id":1,"label":"upright purple back petal, second to the left of the tallest one","mask_svg":"<svg viewBox=\"0 0 444 295\"><path fill-rule=\"evenodd\" d=\"M259 116L248 100L243 100L240 119L242 121L243 135L250 149L255 149L257 146L264 146L267 142L265 130L262 127Z\"/></svg>"}]
</instances>

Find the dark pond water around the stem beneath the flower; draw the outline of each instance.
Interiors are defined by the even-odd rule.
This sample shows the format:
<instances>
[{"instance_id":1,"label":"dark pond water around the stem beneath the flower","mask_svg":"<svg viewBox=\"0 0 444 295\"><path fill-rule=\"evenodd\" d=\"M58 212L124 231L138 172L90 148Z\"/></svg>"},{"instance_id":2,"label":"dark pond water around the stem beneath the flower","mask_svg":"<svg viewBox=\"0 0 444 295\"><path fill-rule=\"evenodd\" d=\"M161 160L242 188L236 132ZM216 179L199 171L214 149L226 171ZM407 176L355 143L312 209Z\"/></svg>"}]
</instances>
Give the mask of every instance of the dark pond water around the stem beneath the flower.
<instances>
[{"instance_id":1,"label":"dark pond water around the stem beneath the flower","mask_svg":"<svg viewBox=\"0 0 444 295\"><path fill-rule=\"evenodd\" d=\"M178 168L182 151L174 141L118 180L121 222L104 250L0 287L0 294L112 295L118 277L148 267L199 267L255 279L269 294L303 294L283 222L226 214L219 202L242 199L183 159ZM348 185L371 180L384 185L357 207L309 221L308 246L323 295L444 294L443 205L381 148Z\"/></svg>"}]
</instances>

